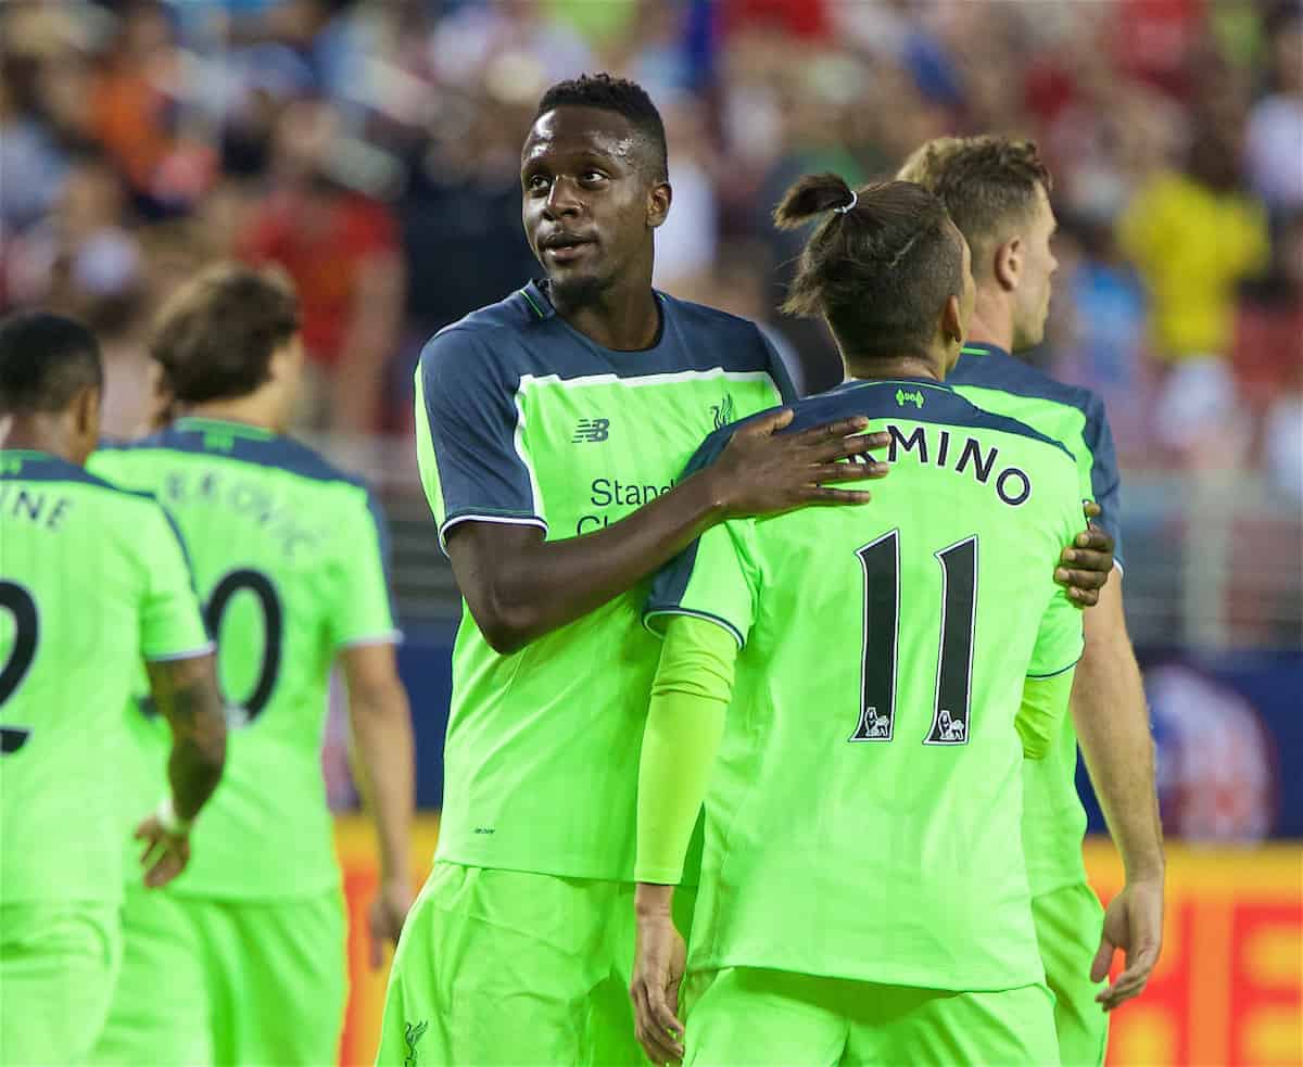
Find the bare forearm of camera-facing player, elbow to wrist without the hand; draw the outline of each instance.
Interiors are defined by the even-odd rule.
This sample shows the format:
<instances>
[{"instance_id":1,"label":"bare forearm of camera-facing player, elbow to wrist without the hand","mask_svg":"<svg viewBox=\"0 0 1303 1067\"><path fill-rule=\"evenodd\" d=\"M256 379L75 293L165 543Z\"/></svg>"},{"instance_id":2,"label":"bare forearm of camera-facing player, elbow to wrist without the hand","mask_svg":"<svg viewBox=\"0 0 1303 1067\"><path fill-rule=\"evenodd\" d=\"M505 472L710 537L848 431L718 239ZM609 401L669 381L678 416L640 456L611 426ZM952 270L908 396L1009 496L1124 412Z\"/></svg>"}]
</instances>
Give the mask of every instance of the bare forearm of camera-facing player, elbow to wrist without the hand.
<instances>
[{"instance_id":1,"label":"bare forearm of camera-facing player, elbow to wrist without the hand","mask_svg":"<svg viewBox=\"0 0 1303 1067\"><path fill-rule=\"evenodd\" d=\"M670 492L610 526L560 541L530 539L516 551L476 552L459 571L470 612L499 651L530 641L588 615L668 563L724 517L711 472L693 474ZM456 542L450 551L457 564ZM476 575L474 568L483 573Z\"/></svg>"}]
</instances>

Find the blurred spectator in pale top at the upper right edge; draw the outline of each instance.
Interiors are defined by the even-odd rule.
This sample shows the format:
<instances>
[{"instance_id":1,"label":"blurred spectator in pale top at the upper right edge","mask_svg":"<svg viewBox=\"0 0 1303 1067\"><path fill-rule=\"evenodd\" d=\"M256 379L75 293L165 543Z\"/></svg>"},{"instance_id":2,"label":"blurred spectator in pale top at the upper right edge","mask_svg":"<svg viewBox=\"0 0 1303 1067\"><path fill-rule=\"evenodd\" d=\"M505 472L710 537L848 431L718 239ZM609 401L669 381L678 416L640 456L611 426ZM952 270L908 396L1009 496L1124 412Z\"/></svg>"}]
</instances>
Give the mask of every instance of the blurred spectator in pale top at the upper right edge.
<instances>
[{"instance_id":1,"label":"blurred spectator in pale top at the upper right edge","mask_svg":"<svg viewBox=\"0 0 1303 1067\"><path fill-rule=\"evenodd\" d=\"M1267 38L1272 91L1248 120L1250 177L1273 211L1303 210L1303 8L1280 8Z\"/></svg>"}]
</instances>

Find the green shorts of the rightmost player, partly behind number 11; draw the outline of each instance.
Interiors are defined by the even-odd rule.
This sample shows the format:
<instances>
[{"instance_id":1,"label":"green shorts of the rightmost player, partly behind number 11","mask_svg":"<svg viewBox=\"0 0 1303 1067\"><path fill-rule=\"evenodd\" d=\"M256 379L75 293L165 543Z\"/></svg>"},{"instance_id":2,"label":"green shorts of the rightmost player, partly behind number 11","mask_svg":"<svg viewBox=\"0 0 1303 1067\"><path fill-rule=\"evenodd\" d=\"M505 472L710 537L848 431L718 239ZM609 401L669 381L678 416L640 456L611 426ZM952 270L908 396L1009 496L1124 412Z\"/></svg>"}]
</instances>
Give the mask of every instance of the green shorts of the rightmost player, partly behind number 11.
<instances>
[{"instance_id":1,"label":"green shorts of the rightmost player, partly behind number 11","mask_svg":"<svg viewBox=\"0 0 1303 1067\"><path fill-rule=\"evenodd\" d=\"M1068 1067L1100 1067L1109 1040L1109 1016L1095 1002L1104 982L1091 981L1100 947L1104 908L1083 883L1032 898L1036 941L1045 982L1054 994L1054 1029Z\"/></svg>"}]
</instances>

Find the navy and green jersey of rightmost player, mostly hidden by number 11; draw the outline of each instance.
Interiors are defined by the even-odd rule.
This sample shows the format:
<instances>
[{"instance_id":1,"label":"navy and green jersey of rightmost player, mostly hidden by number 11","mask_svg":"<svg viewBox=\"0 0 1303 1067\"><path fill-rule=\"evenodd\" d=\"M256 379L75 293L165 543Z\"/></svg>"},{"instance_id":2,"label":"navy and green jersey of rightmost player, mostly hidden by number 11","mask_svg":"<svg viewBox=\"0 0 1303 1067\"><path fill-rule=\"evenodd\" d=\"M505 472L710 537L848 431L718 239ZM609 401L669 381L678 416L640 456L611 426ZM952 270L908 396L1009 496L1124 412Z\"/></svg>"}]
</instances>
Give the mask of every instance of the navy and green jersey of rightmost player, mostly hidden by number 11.
<instances>
[{"instance_id":1,"label":"navy and green jersey of rightmost player, mostly hidden by number 11","mask_svg":"<svg viewBox=\"0 0 1303 1067\"><path fill-rule=\"evenodd\" d=\"M1081 499L1100 505L1095 521L1113 537L1121 567L1121 479L1104 403L1089 390L1055 382L988 344L964 345L946 384L973 404L1020 420L1068 447L1076 456ZM1084 517L1081 522L1084 529ZM1023 847L1032 894L1084 883L1085 809L1076 793L1076 731L1071 715L1045 760L1028 761L1024 790Z\"/></svg>"}]
</instances>

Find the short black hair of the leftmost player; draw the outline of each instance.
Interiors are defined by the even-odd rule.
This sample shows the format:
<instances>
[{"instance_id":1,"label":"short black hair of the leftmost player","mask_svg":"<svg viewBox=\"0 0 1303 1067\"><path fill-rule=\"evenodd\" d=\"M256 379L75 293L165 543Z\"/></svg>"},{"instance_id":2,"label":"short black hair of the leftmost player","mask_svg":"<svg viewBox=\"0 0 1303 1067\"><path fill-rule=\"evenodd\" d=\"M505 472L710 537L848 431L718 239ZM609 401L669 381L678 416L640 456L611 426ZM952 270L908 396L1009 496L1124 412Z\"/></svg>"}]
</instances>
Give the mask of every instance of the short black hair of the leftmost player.
<instances>
[{"instance_id":1,"label":"short black hair of the leftmost player","mask_svg":"<svg viewBox=\"0 0 1303 1067\"><path fill-rule=\"evenodd\" d=\"M57 413L104 387L99 341L77 319L18 311L0 319L0 412Z\"/></svg>"}]
</instances>

